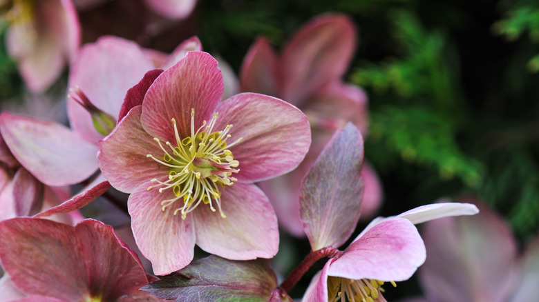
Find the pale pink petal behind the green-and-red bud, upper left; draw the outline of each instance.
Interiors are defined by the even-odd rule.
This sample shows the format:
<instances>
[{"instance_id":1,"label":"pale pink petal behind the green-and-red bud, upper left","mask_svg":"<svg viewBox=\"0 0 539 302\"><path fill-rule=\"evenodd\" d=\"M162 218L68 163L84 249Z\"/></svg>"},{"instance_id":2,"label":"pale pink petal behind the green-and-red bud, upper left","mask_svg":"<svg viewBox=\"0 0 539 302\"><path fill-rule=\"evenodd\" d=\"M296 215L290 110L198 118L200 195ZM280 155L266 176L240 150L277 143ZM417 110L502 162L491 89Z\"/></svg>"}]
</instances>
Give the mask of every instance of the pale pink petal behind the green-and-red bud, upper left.
<instances>
[{"instance_id":1,"label":"pale pink petal behind the green-and-red bud, upper left","mask_svg":"<svg viewBox=\"0 0 539 302\"><path fill-rule=\"evenodd\" d=\"M136 43L102 37L78 52L71 65L68 85L79 87L95 107L117 117L127 90L152 69L153 63ZM82 105L69 97L67 108L71 128L81 137L93 142L103 138Z\"/></svg>"}]
</instances>

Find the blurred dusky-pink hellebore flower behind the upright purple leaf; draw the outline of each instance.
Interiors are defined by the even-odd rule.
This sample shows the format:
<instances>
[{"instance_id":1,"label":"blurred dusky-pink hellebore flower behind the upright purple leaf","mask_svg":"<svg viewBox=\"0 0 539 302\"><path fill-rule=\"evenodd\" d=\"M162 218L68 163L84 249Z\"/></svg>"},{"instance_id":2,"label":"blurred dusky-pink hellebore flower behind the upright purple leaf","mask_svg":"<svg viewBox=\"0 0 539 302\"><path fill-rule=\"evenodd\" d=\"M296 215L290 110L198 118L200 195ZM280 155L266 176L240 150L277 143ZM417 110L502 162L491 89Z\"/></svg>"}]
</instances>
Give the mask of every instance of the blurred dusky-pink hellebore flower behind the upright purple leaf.
<instances>
[{"instance_id":1,"label":"blurred dusky-pink hellebore flower behind the upright purple leaf","mask_svg":"<svg viewBox=\"0 0 539 302\"><path fill-rule=\"evenodd\" d=\"M356 29L340 14L325 14L307 23L277 57L266 39L255 41L240 70L241 90L281 98L307 115L312 145L299 168L260 183L274 205L279 223L291 234L303 236L299 219L299 188L333 132L348 121L366 134L366 94L342 82L356 44ZM363 216L369 217L381 203L381 185L370 165L363 165Z\"/></svg>"}]
</instances>

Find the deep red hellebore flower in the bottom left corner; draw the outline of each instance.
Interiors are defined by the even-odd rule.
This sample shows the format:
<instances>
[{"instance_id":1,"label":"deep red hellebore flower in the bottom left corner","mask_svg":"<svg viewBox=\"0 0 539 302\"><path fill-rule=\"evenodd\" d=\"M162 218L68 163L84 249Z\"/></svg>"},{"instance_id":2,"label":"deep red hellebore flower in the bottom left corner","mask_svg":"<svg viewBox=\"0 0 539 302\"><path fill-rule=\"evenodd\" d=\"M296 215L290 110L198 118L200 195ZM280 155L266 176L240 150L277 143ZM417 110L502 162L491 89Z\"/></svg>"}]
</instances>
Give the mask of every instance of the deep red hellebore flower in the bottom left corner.
<instances>
[{"instance_id":1,"label":"deep red hellebore flower in the bottom left corner","mask_svg":"<svg viewBox=\"0 0 539 302\"><path fill-rule=\"evenodd\" d=\"M12 296L26 296L19 301L162 301L139 291L149 280L138 257L100 221L10 219L0 222L0 242L10 277L1 286L10 281Z\"/></svg>"}]
</instances>

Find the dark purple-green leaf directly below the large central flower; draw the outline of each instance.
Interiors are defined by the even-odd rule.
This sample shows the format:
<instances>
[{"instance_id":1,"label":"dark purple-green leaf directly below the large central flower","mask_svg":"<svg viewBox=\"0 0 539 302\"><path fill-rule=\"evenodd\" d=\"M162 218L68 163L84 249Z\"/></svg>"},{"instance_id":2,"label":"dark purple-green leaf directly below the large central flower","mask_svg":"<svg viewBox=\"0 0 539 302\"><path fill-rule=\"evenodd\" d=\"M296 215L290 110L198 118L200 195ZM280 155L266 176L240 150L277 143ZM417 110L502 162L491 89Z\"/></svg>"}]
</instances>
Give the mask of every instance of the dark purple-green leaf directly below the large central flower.
<instances>
[{"instance_id":1,"label":"dark purple-green leaf directly below the large central flower","mask_svg":"<svg viewBox=\"0 0 539 302\"><path fill-rule=\"evenodd\" d=\"M276 286L276 276L265 259L231 261L212 255L141 290L178 302L267 301Z\"/></svg>"}]
</instances>

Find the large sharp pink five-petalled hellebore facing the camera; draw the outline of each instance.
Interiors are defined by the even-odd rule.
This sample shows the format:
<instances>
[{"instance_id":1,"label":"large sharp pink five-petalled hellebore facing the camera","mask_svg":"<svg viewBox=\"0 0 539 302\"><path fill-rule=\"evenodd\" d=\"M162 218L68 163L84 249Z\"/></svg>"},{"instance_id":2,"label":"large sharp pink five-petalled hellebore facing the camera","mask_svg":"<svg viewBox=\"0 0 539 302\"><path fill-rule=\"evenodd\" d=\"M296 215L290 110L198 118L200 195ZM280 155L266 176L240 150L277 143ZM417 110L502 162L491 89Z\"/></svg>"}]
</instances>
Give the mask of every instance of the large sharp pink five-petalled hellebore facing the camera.
<instances>
[{"instance_id":1,"label":"large sharp pink five-petalled hellebore facing the camera","mask_svg":"<svg viewBox=\"0 0 539 302\"><path fill-rule=\"evenodd\" d=\"M98 160L106 179L131 193L133 234L155 274L185 267L195 243L232 260L274 256L276 217L253 182L303 159L307 117L262 94L221 102L223 76L205 52L188 52L150 84L128 94L133 107L100 142Z\"/></svg>"}]
</instances>

